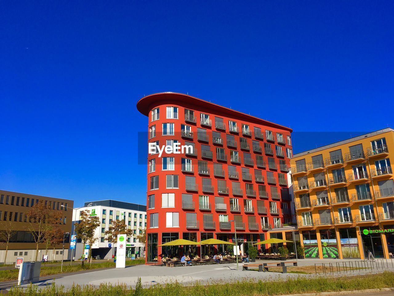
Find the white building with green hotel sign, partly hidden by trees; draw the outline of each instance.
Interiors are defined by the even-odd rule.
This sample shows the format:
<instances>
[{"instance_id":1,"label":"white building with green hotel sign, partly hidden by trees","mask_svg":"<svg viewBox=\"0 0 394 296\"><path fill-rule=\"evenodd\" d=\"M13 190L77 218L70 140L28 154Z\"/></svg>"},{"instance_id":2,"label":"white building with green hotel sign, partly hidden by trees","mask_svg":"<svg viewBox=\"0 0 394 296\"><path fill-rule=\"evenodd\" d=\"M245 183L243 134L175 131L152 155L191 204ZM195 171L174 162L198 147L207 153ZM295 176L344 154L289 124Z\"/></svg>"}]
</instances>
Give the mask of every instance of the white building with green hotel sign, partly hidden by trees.
<instances>
[{"instance_id":1,"label":"white building with green hotel sign, partly hidden by trees","mask_svg":"<svg viewBox=\"0 0 394 296\"><path fill-rule=\"evenodd\" d=\"M71 233L74 232L74 223L80 221L80 213L84 210L89 210L90 215L97 215L101 222L95 232L95 236L99 237L99 240L92 246L93 257L99 256L100 259L109 259L112 258L112 255L116 254L116 243L113 244L106 240L105 231L108 230L113 220L119 219L124 219L128 228L132 229L134 233L132 237L127 238L126 257L131 258L132 254L135 254L136 258L144 256L145 244L138 242L137 235L147 226L146 206L117 200L85 202L82 208L73 210ZM71 259L72 252L69 253L69 259ZM84 244L82 244L81 240L77 239L76 249L72 253L72 256L78 260L83 253Z\"/></svg>"}]
</instances>

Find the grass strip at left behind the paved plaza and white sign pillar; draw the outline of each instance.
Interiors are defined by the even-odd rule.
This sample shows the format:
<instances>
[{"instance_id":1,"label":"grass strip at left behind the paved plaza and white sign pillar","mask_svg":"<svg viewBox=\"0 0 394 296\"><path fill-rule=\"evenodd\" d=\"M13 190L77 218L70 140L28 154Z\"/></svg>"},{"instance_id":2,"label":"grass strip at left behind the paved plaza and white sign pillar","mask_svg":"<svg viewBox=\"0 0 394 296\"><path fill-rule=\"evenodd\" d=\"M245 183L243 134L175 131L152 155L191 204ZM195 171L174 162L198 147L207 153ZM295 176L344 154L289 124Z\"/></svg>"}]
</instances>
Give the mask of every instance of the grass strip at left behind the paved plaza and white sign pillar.
<instances>
[{"instance_id":1,"label":"grass strip at left behind the paved plaza and white sign pillar","mask_svg":"<svg viewBox=\"0 0 394 296\"><path fill-rule=\"evenodd\" d=\"M136 260L126 260L126 266L129 265L136 265L136 264L144 264L145 259L136 259ZM91 269L99 269L99 268L109 268L115 267L116 263L112 261L107 262L100 262L92 264L91 266L89 263L85 262L84 268L82 269L81 262L75 262L73 265L70 266L69 263L63 264L63 272L60 272L60 266L41 266L41 276L45 275L55 275L60 273L68 273L68 272L78 272L81 270L91 270ZM0 270L0 282L1 281L12 281L18 279L19 270L12 269L12 270Z\"/></svg>"}]
</instances>

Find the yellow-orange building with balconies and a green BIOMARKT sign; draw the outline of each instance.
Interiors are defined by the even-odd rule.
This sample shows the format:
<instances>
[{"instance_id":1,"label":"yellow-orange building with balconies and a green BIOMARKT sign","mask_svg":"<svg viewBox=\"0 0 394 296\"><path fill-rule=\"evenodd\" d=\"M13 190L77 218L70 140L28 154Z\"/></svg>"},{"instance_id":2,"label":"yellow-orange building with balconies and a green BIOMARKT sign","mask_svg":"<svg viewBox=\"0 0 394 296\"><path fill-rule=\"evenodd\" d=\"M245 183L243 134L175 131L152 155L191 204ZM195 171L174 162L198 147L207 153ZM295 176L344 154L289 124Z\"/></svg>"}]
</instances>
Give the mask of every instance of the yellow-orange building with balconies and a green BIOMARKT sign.
<instances>
[{"instance_id":1,"label":"yellow-orange building with balconies and a green BIOMARKT sign","mask_svg":"<svg viewBox=\"0 0 394 296\"><path fill-rule=\"evenodd\" d=\"M394 254L394 130L295 154L297 225L305 257Z\"/></svg>"}]
</instances>

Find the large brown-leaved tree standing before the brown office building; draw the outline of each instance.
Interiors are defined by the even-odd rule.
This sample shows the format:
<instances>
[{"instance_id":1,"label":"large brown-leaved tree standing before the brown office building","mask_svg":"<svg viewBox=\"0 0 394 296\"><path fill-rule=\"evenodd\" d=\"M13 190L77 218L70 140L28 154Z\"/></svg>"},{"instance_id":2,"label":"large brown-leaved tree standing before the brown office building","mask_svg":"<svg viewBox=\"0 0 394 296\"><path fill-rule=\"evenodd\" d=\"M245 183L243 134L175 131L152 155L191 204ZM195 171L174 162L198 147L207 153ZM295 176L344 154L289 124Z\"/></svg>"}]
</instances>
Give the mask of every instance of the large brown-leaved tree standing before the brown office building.
<instances>
[{"instance_id":1,"label":"large brown-leaved tree standing before the brown office building","mask_svg":"<svg viewBox=\"0 0 394 296\"><path fill-rule=\"evenodd\" d=\"M39 244L45 242L45 233L48 232L55 224L60 224L63 218L63 211L52 210L43 200L39 200L26 213L29 217L27 229L32 233L35 248L35 261L37 261Z\"/></svg>"}]
</instances>

